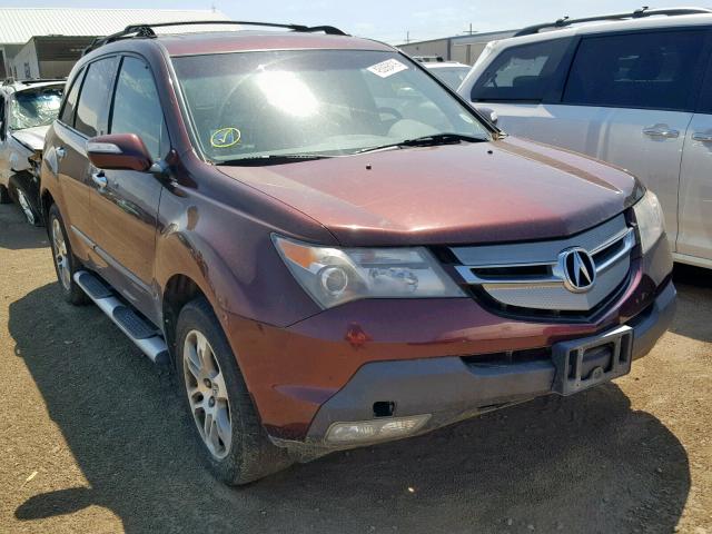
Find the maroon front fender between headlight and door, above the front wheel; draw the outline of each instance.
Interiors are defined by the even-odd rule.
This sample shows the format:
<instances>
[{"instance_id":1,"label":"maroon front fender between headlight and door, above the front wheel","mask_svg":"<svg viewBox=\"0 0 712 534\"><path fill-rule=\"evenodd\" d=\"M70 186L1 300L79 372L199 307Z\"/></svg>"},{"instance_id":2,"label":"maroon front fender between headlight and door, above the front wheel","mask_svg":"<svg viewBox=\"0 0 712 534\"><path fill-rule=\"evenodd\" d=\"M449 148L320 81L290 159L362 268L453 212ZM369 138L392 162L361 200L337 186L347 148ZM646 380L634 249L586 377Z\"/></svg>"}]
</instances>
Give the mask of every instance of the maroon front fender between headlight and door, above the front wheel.
<instances>
[{"instance_id":1,"label":"maroon front fender between headlight and door, above the front wheel","mask_svg":"<svg viewBox=\"0 0 712 534\"><path fill-rule=\"evenodd\" d=\"M273 231L284 229L191 191L165 190L155 264L161 300L170 278L184 275L200 287L216 313L274 326L318 313L279 257Z\"/></svg>"}]
</instances>

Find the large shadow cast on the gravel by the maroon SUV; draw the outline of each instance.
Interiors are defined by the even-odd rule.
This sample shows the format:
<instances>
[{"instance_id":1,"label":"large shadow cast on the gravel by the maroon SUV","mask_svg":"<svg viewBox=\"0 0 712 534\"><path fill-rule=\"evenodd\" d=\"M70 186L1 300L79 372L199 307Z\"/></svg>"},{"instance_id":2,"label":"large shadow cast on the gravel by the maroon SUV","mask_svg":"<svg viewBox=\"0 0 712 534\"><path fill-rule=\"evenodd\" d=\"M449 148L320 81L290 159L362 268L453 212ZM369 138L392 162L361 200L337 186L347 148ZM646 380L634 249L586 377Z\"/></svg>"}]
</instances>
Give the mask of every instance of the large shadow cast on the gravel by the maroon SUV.
<instances>
[{"instance_id":1,"label":"large shadow cast on the gravel by the maroon SUV","mask_svg":"<svg viewBox=\"0 0 712 534\"><path fill-rule=\"evenodd\" d=\"M129 533L670 533L690 490L678 438L613 384L228 488L196 459L169 374L96 307L51 284L10 305L9 328L90 484L30 497L20 521L98 505Z\"/></svg>"}]
</instances>

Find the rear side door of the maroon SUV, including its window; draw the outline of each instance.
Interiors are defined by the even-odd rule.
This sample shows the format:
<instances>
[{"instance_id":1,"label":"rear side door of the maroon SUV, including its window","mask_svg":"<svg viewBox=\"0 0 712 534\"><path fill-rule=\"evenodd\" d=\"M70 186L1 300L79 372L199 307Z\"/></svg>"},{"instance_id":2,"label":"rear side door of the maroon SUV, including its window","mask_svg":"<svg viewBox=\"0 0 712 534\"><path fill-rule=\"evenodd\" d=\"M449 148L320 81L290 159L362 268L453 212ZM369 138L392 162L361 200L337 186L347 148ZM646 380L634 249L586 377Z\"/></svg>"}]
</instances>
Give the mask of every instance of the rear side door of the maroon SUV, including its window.
<instances>
[{"instance_id":1,"label":"rear side door of the maroon SUV, including its window","mask_svg":"<svg viewBox=\"0 0 712 534\"><path fill-rule=\"evenodd\" d=\"M87 139L106 132L108 99L118 58L110 56L85 67L69 90L55 122L44 159L59 178L65 224L76 250L90 250L97 234L91 218L91 172Z\"/></svg>"}]
</instances>

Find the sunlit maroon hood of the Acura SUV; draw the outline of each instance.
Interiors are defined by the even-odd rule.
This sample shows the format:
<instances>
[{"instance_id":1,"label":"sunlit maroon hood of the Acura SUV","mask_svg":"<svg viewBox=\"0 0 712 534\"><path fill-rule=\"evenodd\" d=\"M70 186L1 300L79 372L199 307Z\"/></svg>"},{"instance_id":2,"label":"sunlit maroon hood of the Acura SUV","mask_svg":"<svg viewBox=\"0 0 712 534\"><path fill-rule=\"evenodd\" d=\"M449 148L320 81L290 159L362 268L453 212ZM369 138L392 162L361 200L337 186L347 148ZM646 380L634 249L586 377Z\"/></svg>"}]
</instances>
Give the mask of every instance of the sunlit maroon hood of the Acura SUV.
<instances>
[{"instance_id":1,"label":"sunlit maroon hood of the Acura SUV","mask_svg":"<svg viewBox=\"0 0 712 534\"><path fill-rule=\"evenodd\" d=\"M344 246L563 237L642 195L621 169L515 138L220 170L316 219Z\"/></svg>"}]
</instances>

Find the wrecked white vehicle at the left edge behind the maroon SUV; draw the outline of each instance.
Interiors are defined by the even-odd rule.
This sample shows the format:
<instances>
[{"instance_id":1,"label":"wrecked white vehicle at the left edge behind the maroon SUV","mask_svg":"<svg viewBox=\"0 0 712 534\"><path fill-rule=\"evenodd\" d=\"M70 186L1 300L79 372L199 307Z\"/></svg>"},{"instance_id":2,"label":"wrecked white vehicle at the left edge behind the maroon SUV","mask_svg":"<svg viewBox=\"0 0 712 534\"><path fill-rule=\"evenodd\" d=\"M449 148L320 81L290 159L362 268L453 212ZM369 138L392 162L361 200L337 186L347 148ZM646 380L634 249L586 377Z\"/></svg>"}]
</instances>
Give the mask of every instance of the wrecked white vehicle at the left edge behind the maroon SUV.
<instances>
[{"instance_id":1,"label":"wrecked white vehicle at the left edge behind the maroon SUV","mask_svg":"<svg viewBox=\"0 0 712 534\"><path fill-rule=\"evenodd\" d=\"M39 164L63 87L63 80L7 80L0 86L0 204L14 198L31 225L41 222Z\"/></svg>"}]
</instances>

